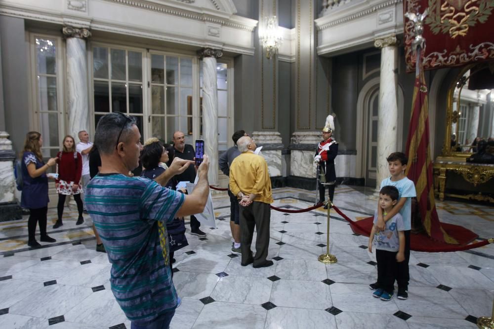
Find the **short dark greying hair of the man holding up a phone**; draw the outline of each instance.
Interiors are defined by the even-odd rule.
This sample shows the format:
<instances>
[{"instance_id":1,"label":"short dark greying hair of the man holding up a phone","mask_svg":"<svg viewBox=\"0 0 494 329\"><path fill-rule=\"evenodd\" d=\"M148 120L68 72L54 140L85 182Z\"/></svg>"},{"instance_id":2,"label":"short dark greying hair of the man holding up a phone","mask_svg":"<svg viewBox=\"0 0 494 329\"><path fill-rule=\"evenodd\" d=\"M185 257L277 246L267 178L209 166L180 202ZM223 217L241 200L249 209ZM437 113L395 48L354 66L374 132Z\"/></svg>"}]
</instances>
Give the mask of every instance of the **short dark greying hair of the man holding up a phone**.
<instances>
[{"instance_id":1,"label":"short dark greying hair of the man holding up a phone","mask_svg":"<svg viewBox=\"0 0 494 329\"><path fill-rule=\"evenodd\" d=\"M99 152L112 154L117 147L120 131L122 131L122 135L119 141L126 142L134 124L136 124L136 119L133 116L119 112L105 114L99 119L94 133L94 144L98 147ZM124 127L123 130L122 127Z\"/></svg>"}]
</instances>

